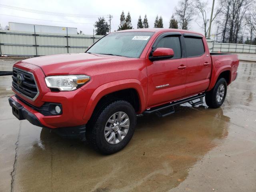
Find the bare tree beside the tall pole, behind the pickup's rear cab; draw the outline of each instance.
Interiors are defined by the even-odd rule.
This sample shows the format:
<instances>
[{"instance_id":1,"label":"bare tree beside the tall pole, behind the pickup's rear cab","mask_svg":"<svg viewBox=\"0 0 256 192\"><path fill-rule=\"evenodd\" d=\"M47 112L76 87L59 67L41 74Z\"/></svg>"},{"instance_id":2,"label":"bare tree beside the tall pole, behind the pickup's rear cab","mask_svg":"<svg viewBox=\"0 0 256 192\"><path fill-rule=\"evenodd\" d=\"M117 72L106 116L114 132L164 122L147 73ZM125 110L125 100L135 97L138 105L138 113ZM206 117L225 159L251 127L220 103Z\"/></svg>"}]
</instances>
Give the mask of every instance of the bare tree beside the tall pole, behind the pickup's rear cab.
<instances>
[{"instance_id":1,"label":"bare tree beside the tall pole, behind the pickup's rear cab","mask_svg":"<svg viewBox=\"0 0 256 192\"><path fill-rule=\"evenodd\" d=\"M199 14L201 15L201 17L198 15L198 18L202 18L203 20L203 24L200 25L197 24L204 30L204 36L207 36L207 33L209 31L210 28L210 18L208 18L208 12L210 11L210 8L208 7L208 1L202 1L202 0L195 0L194 1L194 7L196 8L196 10L198 10ZM214 16L212 17L212 21L216 18L216 16L220 13L220 8L218 8L215 13ZM210 38L210 37L208 37Z\"/></svg>"}]
</instances>

